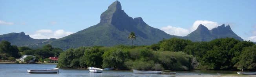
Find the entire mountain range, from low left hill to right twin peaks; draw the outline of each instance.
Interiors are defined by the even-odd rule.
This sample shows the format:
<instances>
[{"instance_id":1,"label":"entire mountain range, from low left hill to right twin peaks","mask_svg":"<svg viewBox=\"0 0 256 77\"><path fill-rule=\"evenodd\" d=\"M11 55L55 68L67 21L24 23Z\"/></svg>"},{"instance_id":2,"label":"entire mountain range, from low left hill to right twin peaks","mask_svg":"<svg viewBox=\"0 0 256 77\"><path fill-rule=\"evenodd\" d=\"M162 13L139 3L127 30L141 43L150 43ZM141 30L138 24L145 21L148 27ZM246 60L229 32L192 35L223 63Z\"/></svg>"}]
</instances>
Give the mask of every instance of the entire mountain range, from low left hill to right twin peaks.
<instances>
[{"instance_id":1,"label":"entire mountain range, from low left hill to right twin peaks","mask_svg":"<svg viewBox=\"0 0 256 77\"><path fill-rule=\"evenodd\" d=\"M225 26L224 24L212 30L208 30L204 25L199 25L194 32L185 37L169 35L162 30L147 25L141 17L129 17L122 10L121 3L115 1L101 14L100 23L66 37L60 39L33 39L29 35L25 35L24 32L20 32L0 35L0 41L7 40L16 46L32 48L51 44L53 47L65 50L80 46L132 45L132 40L128 39L131 32L135 32L137 35L137 40L133 42L134 45L151 45L172 37L192 41L210 41L226 37L243 40L231 30L229 25Z\"/></svg>"}]
</instances>

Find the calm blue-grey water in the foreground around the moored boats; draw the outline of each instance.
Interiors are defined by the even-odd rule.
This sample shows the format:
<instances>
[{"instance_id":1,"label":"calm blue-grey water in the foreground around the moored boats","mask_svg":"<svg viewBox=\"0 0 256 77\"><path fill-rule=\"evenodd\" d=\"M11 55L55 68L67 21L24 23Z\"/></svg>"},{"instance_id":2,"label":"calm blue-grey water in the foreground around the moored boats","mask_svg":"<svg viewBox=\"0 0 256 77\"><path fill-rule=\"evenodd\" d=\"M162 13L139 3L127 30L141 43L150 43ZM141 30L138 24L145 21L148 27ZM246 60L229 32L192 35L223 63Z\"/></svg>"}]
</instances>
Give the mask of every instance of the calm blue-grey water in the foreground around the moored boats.
<instances>
[{"instance_id":1,"label":"calm blue-grey water in the foreground around the moored boats","mask_svg":"<svg viewBox=\"0 0 256 77\"><path fill-rule=\"evenodd\" d=\"M102 73L91 73L89 70L82 69L59 69L57 73L28 73L29 69L51 69L54 64L0 64L0 77L176 77L177 75L217 75L232 74L237 71L174 71L176 75L161 74L134 74L127 70L104 70Z\"/></svg>"}]
</instances>

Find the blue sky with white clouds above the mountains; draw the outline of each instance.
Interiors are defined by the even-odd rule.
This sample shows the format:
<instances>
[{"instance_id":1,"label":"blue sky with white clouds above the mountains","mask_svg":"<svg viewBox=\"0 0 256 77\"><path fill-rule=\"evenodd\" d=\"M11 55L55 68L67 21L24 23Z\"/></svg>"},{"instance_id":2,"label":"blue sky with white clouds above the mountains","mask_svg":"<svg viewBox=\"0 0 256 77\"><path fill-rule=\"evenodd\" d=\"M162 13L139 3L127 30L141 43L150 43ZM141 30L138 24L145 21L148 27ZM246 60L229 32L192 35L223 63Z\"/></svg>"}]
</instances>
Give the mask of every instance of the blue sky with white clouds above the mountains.
<instances>
[{"instance_id":1,"label":"blue sky with white clouds above the mountains","mask_svg":"<svg viewBox=\"0 0 256 77\"><path fill-rule=\"evenodd\" d=\"M25 32L34 39L61 38L100 21L115 0L0 0L0 35ZM130 17L170 35L186 36L199 24L230 25L256 42L256 0L119 0Z\"/></svg>"}]
</instances>

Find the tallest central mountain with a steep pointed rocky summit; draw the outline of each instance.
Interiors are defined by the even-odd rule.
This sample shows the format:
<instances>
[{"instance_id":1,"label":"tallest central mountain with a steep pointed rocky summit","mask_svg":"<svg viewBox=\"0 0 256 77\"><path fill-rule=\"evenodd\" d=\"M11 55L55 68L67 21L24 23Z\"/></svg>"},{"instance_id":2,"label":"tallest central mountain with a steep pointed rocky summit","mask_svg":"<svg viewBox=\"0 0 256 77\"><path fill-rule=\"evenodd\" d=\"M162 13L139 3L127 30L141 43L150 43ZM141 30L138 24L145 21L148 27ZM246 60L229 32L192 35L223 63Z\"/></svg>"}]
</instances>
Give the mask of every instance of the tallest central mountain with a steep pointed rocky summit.
<instances>
[{"instance_id":1,"label":"tallest central mountain with a steep pointed rocky summit","mask_svg":"<svg viewBox=\"0 0 256 77\"><path fill-rule=\"evenodd\" d=\"M100 23L57 39L51 42L51 45L62 49L80 46L132 45L132 40L128 39L131 32L137 35L134 45L150 45L164 38L177 37L147 25L141 17L134 19L129 17L122 10L121 3L115 1L101 14Z\"/></svg>"}]
</instances>

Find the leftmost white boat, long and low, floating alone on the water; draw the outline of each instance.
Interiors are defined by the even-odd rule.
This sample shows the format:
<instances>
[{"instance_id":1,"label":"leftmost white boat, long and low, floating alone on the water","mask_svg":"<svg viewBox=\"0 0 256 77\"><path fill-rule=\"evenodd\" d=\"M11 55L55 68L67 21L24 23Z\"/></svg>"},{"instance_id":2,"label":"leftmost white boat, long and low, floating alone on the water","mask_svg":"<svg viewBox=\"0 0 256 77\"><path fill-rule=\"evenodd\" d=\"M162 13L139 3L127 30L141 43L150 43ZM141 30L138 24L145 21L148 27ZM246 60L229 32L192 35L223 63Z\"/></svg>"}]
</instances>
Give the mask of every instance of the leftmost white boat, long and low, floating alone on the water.
<instances>
[{"instance_id":1,"label":"leftmost white boat, long and low, floating alone on the water","mask_svg":"<svg viewBox=\"0 0 256 77\"><path fill-rule=\"evenodd\" d=\"M59 68L46 69L46 70L27 70L29 73L58 73Z\"/></svg>"}]
</instances>

